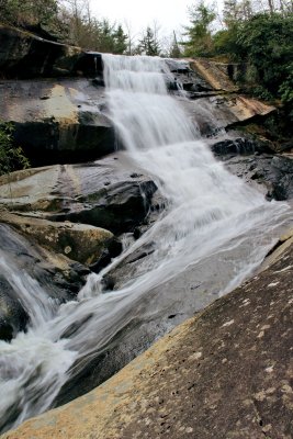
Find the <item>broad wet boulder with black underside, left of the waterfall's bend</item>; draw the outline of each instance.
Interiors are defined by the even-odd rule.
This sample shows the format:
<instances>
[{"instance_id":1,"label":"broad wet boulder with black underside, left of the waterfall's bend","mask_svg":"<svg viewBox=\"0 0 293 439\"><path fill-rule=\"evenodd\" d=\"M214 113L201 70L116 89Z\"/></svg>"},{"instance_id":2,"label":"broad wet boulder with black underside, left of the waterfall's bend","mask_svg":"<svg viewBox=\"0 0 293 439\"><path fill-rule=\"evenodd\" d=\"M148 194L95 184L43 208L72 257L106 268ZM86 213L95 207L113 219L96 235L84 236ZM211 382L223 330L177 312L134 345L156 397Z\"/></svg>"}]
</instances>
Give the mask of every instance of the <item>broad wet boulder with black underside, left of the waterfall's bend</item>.
<instances>
[{"instance_id":1,"label":"broad wet boulder with black underside, left of the waterfall's bend","mask_svg":"<svg viewBox=\"0 0 293 439\"><path fill-rule=\"evenodd\" d=\"M0 202L26 215L128 232L147 216L157 187L122 161L115 156L14 172L9 182L2 178Z\"/></svg>"}]
</instances>

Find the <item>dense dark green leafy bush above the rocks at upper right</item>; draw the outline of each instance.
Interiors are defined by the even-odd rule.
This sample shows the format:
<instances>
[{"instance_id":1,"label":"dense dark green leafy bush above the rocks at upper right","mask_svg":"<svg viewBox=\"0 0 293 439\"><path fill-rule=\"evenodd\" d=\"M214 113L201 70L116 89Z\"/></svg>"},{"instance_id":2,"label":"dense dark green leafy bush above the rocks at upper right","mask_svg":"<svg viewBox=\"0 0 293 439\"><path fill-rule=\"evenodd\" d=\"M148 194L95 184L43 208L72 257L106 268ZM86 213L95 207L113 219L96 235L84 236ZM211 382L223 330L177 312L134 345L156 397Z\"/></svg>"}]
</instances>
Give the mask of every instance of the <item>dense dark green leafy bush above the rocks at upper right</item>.
<instances>
[{"instance_id":1,"label":"dense dark green leafy bush above the rocks at upper right","mask_svg":"<svg viewBox=\"0 0 293 439\"><path fill-rule=\"evenodd\" d=\"M269 10L252 14L248 7L244 13L244 5L235 0L225 2L227 27L213 36L215 54L247 64L241 81L252 94L263 100L281 99L292 106L293 13Z\"/></svg>"}]
</instances>

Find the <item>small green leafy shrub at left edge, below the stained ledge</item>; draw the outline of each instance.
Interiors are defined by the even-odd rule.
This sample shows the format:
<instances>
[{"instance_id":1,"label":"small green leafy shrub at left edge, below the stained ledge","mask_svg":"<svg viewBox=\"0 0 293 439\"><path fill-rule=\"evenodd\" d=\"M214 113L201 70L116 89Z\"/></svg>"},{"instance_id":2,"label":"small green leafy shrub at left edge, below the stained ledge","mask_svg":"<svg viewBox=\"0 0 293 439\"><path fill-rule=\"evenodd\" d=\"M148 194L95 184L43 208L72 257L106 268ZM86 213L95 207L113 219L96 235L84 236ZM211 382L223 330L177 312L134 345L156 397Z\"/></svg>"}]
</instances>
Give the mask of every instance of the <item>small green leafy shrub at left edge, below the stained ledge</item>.
<instances>
[{"instance_id":1,"label":"small green leafy shrub at left edge, below the stained ledge","mask_svg":"<svg viewBox=\"0 0 293 439\"><path fill-rule=\"evenodd\" d=\"M0 176L30 167L21 147L13 145L13 125L0 122Z\"/></svg>"}]
</instances>

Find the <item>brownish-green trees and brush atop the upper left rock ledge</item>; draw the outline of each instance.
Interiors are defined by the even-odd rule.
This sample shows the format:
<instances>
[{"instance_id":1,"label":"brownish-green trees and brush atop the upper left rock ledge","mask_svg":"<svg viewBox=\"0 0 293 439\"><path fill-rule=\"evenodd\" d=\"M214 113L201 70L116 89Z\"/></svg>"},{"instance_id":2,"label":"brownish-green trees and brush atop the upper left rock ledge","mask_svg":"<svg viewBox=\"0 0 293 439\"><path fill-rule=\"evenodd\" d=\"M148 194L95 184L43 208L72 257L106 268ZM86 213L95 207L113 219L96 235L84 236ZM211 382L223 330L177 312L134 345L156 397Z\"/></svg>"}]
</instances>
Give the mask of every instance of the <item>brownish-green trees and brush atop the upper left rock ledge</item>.
<instances>
[{"instance_id":1,"label":"brownish-green trees and brush atop the upper left rock ledge","mask_svg":"<svg viewBox=\"0 0 293 439\"><path fill-rule=\"evenodd\" d=\"M40 26L63 43L114 54L126 50L122 26L92 18L88 0L0 0L0 11L1 22L33 32Z\"/></svg>"}]
</instances>

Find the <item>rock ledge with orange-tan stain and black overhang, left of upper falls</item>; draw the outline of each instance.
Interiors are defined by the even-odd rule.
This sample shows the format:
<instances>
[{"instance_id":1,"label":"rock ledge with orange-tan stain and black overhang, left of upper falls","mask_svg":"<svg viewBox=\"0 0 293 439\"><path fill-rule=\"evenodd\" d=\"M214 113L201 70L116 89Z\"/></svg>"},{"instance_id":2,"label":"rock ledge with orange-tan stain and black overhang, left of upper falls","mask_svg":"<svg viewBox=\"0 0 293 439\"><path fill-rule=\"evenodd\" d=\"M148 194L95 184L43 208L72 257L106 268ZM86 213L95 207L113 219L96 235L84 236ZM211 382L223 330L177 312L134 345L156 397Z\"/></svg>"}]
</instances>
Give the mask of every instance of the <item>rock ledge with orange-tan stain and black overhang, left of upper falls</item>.
<instances>
[{"instance_id":1,"label":"rock ledge with orange-tan stain and black overhang, left of upper falls","mask_svg":"<svg viewBox=\"0 0 293 439\"><path fill-rule=\"evenodd\" d=\"M33 166L97 159L115 150L103 89L87 79L1 81L0 119Z\"/></svg>"}]
</instances>

